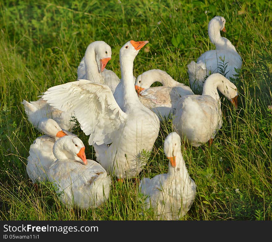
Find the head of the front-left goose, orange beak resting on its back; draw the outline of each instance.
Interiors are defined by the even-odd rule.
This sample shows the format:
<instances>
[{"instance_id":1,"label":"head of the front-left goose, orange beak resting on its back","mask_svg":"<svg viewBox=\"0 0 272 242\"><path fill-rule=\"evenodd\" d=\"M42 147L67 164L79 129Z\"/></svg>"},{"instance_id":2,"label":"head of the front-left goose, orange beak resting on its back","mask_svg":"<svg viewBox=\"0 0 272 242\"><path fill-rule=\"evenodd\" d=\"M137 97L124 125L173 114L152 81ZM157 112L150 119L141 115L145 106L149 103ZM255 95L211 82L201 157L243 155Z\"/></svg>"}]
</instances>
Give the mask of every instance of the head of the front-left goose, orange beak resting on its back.
<instances>
[{"instance_id":1,"label":"head of the front-left goose, orange beak resting on its back","mask_svg":"<svg viewBox=\"0 0 272 242\"><path fill-rule=\"evenodd\" d=\"M76 136L67 135L56 140L53 145L53 154L57 160L69 159L87 165L85 146Z\"/></svg>"}]
</instances>

